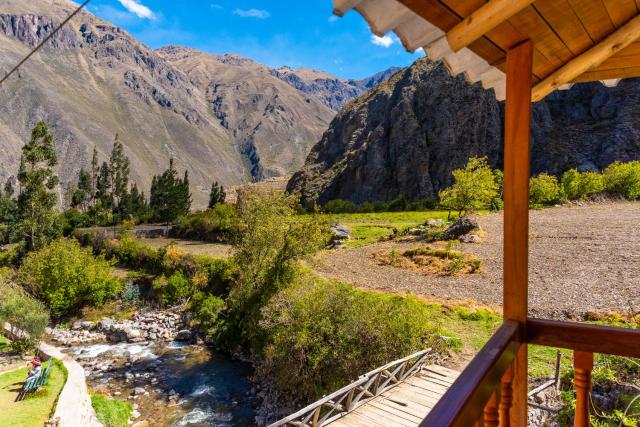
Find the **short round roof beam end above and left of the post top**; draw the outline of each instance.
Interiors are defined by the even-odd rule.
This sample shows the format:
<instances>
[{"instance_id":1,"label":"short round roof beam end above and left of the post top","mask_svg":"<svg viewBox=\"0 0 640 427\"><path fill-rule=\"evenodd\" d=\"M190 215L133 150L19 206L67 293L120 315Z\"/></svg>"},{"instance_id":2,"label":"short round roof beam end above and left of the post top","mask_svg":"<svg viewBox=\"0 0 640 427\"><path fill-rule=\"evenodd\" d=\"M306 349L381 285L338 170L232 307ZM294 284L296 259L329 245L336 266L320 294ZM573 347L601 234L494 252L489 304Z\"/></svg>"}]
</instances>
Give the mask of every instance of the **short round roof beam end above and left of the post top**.
<instances>
[{"instance_id":1,"label":"short round roof beam end above and left of the post top","mask_svg":"<svg viewBox=\"0 0 640 427\"><path fill-rule=\"evenodd\" d=\"M511 18L534 0L489 0L447 33L451 50L459 51Z\"/></svg>"}]
</instances>

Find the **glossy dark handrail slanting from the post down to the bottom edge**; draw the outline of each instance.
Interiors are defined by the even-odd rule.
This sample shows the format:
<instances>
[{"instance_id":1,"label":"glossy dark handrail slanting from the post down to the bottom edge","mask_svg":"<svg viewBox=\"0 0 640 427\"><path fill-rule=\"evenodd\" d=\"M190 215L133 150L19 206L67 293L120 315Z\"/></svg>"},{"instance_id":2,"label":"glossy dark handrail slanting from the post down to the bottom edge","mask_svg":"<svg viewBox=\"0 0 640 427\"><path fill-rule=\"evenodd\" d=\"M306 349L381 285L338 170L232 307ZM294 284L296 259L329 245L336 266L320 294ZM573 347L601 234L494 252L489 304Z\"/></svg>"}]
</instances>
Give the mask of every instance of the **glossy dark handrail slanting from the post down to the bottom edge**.
<instances>
[{"instance_id":1,"label":"glossy dark handrail slanting from the post down to the bottom edge","mask_svg":"<svg viewBox=\"0 0 640 427\"><path fill-rule=\"evenodd\" d=\"M433 407L421 427L468 427L482 416L522 343L518 322L505 321Z\"/></svg>"}]
</instances>

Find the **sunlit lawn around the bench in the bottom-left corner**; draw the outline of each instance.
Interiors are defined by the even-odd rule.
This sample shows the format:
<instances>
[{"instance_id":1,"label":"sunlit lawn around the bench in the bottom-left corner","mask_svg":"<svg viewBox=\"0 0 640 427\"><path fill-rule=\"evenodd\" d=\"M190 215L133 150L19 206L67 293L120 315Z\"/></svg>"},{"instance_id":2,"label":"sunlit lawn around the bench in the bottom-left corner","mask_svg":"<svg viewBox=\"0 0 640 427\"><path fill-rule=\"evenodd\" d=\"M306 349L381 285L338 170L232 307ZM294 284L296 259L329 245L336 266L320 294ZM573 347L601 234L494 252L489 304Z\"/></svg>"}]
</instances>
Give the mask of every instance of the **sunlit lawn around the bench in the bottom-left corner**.
<instances>
[{"instance_id":1,"label":"sunlit lawn around the bench in the bottom-left corner","mask_svg":"<svg viewBox=\"0 0 640 427\"><path fill-rule=\"evenodd\" d=\"M55 403L66 381L66 369L55 361L45 387L30 393L21 402L14 402L25 378L27 368L0 375L0 414L2 425L11 427L41 426L53 414Z\"/></svg>"}]
</instances>

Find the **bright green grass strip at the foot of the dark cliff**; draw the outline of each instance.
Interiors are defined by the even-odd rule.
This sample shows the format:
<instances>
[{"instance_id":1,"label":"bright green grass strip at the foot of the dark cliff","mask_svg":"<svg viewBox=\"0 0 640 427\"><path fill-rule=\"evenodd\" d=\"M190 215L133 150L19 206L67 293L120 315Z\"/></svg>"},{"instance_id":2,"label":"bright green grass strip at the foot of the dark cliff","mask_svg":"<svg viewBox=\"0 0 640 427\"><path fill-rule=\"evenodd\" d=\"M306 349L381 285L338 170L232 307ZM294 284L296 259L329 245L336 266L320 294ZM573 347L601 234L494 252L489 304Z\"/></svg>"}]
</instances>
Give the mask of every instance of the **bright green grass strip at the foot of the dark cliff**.
<instances>
[{"instance_id":1,"label":"bright green grass strip at the foot of the dark cliff","mask_svg":"<svg viewBox=\"0 0 640 427\"><path fill-rule=\"evenodd\" d=\"M393 234L393 229L402 232L407 228L424 224L428 219L447 219L447 211L420 212L373 212L353 214L326 214L329 220L351 228L351 239L347 247L357 248L379 241Z\"/></svg>"}]
</instances>

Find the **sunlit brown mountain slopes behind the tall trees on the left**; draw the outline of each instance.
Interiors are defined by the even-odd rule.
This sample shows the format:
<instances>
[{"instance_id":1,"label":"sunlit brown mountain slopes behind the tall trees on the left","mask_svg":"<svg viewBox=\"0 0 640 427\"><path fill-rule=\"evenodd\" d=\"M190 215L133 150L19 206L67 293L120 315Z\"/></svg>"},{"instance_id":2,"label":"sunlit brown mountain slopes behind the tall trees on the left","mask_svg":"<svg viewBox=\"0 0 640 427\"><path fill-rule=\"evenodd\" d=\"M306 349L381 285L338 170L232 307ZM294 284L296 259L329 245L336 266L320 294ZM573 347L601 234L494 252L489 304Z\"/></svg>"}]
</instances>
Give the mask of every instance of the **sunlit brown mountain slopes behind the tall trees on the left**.
<instances>
[{"instance_id":1,"label":"sunlit brown mountain slopes behind the tall trees on the left","mask_svg":"<svg viewBox=\"0 0 640 427\"><path fill-rule=\"evenodd\" d=\"M0 72L76 7L0 0ZM395 71L347 81L234 54L152 50L83 11L0 87L0 179L15 175L20 148L44 120L63 186L89 165L94 146L106 160L117 133L139 186L148 188L174 158L200 206L213 180L229 186L298 170L336 111Z\"/></svg>"}]
</instances>

